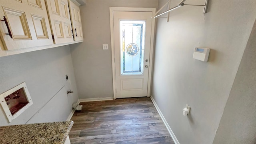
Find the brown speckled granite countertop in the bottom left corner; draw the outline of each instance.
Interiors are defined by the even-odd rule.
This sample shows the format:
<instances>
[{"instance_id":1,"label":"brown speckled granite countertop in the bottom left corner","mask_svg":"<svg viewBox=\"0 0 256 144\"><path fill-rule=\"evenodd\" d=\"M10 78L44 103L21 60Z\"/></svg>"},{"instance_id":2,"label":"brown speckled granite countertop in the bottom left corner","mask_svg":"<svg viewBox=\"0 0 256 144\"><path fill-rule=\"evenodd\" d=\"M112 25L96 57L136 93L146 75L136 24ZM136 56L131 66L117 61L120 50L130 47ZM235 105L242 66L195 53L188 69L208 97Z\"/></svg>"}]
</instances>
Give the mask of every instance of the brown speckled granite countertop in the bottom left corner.
<instances>
[{"instance_id":1,"label":"brown speckled granite countertop in the bottom left corner","mask_svg":"<svg viewBox=\"0 0 256 144\"><path fill-rule=\"evenodd\" d=\"M74 122L48 122L0 127L0 144L64 144Z\"/></svg>"}]
</instances>

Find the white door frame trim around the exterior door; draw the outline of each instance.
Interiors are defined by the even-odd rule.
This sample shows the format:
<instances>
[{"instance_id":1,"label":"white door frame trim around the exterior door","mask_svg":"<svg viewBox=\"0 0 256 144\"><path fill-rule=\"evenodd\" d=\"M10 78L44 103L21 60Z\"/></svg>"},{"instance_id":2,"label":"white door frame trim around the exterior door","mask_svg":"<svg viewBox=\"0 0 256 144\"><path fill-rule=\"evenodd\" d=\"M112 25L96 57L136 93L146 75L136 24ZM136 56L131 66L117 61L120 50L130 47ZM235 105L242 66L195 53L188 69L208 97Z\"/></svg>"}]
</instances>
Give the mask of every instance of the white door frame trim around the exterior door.
<instances>
[{"instance_id":1,"label":"white door frame trim around the exterior door","mask_svg":"<svg viewBox=\"0 0 256 144\"><path fill-rule=\"evenodd\" d=\"M110 35L111 35L111 54L112 54L112 75L113 75L113 93L114 100L116 99L116 71L115 71L115 53L114 53L114 11L126 11L126 12L152 12L152 15L156 13L156 8L130 8L130 7L109 7L110 13ZM155 31L155 18L152 18L151 38L150 38L150 55L149 55L149 71L148 71L148 88L147 96L150 97L151 92L151 79L153 68L153 46L154 46L154 31Z\"/></svg>"}]
</instances>

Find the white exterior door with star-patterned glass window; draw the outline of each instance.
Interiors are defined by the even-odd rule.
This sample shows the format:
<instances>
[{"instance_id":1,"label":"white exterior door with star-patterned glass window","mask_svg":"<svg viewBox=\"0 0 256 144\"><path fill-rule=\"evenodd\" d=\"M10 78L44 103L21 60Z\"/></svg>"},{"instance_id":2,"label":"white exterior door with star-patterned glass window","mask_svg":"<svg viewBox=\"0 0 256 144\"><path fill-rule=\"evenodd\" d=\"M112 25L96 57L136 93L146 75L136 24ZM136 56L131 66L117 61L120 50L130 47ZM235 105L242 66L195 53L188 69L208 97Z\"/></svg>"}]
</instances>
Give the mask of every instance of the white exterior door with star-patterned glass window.
<instances>
[{"instance_id":1,"label":"white exterior door with star-patterned glass window","mask_svg":"<svg viewBox=\"0 0 256 144\"><path fill-rule=\"evenodd\" d=\"M116 98L147 96L152 12L113 12Z\"/></svg>"}]
</instances>

